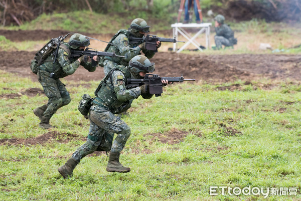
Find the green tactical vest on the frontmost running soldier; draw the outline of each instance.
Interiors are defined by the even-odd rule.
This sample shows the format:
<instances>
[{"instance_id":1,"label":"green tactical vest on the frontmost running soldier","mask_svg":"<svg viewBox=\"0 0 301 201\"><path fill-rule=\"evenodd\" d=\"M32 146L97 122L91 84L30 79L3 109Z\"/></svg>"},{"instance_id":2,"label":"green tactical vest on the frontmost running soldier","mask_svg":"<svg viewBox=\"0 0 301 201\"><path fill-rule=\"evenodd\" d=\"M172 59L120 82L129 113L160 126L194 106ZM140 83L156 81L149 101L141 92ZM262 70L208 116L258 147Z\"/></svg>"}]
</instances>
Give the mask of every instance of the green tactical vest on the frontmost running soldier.
<instances>
[{"instance_id":1,"label":"green tactical vest on the frontmost running soldier","mask_svg":"<svg viewBox=\"0 0 301 201\"><path fill-rule=\"evenodd\" d=\"M113 114L120 113L130 107L129 101L119 101L117 100L116 91L112 83L112 73L115 70L119 70L125 76L125 82L128 78L131 77L129 70L122 65L117 65L113 68L99 83L97 89L94 92L96 98L92 103L99 105L101 107L107 107ZM107 83L107 80L110 78L110 83Z\"/></svg>"}]
</instances>

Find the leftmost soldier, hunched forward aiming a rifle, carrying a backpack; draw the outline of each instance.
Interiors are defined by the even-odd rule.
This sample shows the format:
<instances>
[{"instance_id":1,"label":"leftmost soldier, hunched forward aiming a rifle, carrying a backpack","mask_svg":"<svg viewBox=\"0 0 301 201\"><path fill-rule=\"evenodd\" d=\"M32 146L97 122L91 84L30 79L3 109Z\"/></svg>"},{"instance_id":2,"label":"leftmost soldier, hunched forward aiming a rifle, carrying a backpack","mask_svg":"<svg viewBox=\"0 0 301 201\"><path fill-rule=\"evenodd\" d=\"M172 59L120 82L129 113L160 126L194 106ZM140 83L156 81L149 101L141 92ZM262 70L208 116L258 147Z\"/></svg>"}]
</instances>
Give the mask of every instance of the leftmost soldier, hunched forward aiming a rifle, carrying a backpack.
<instances>
[{"instance_id":1,"label":"leftmost soldier, hunched forward aiming a rifle, carrying a backpack","mask_svg":"<svg viewBox=\"0 0 301 201\"><path fill-rule=\"evenodd\" d=\"M70 49L83 50L90 45L90 40L81 34L71 36L69 43L60 45L56 62L53 65L54 54L50 54L45 61L39 66L38 80L43 86L45 95L49 98L48 103L34 110L34 114L39 117L41 122L39 127L48 129L52 126L49 120L54 113L60 108L70 103L71 98L65 85L59 78L66 77L75 72L82 65L89 72L93 72L96 66L92 66L92 62L88 61L88 56L73 57ZM94 56L93 60L99 61L98 56ZM50 74L54 76L50 77Z\"/></svg>"}]
</instances>

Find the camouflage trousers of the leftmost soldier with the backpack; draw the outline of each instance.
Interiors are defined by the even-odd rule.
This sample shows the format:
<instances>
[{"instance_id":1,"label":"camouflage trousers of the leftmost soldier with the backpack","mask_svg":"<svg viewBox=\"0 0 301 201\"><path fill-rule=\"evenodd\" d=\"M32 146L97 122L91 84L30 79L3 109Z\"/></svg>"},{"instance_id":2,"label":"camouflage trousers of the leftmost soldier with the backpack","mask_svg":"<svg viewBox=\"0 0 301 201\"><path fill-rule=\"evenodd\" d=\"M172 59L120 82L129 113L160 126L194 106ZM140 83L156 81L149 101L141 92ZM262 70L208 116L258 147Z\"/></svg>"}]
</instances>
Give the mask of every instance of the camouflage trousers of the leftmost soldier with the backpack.
<instances>
[{"instance_id":1,"label":"camouflage trousers of the leftmost soldier with the backpack","mask_svg":"<svg viewBox=\"0 0 301 201\"><path fill-rule=\"evenodd\" d=\"M47 109L43 116L51 118L54 113L71 101L70 95L65 88L65 85L59 79L49 77L50 74L46 71L38 71L38 80L41 83L45 95L48 97Z\"/></svg>"}]
</instances>

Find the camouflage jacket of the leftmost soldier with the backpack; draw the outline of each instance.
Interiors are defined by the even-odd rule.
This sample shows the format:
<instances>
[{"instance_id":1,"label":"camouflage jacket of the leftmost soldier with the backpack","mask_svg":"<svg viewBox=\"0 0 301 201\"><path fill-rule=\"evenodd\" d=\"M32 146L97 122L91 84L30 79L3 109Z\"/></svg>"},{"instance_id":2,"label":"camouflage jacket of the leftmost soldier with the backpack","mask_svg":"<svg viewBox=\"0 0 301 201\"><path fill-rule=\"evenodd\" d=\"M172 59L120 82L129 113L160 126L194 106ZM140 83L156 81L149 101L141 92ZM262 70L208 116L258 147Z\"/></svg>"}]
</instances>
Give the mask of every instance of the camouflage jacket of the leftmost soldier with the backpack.
<instances>
[{"instance_id":1,"label":"camouflage jacket of the leftmost soldier with the backpack","mask_svg":"<svg viewBox=\"0 0 301 201\"><path fill-rule=\"evenodd\" d=\"M64 43L68 48L70 46L68 43ZM92 67L92 63L90 61L81 63L78 60L79 57L72 57L72 55L68 55L68 53L59 48L56 62L53 65L54 54L50 54L43 64L40 65L39 69L43 71L47 71L48 73L55 73L55 79L63 78L68 75L73 74L79 65L82 65L89 72L93 72L96 70L96 67Z\"/></svg>"}]
</instances>

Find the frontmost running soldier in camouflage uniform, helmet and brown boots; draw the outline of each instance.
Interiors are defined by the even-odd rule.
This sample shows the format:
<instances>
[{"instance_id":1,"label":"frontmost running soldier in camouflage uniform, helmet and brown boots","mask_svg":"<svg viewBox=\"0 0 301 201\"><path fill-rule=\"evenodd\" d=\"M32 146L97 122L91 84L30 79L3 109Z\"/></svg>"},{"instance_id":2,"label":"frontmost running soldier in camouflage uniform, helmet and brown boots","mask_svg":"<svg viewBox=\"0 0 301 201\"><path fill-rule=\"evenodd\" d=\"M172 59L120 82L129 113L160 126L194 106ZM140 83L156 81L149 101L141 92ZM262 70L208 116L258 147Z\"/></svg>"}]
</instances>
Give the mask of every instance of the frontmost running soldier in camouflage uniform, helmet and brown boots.
<instances>
[{"instance_id":1,"label":"frontmost running soldier in camouflage uniform, helmet and brown boots","mask_svg":"<svg viewBox=\"0 0 301 201\"><path fill-rule=\"evenodd\" d=\"M148 85L128 89L125 83L128 78L141 79L146 73L153 72L154 65L145 56L138 55L130 60L127 67L117 65L103 78L94 92L96 98L89 112L90 129L87 141L77 148L63 166L58 168L64 178L72 175L75 166L83 157L99 148L106 150L103 147L111 147L107 171L130 171L129 167L124 167L119 162L120 151L130 135L130 127L114 114L128 109L129 100L138 98L140 95L144 99L152 98L153 94L149 94ZM163 80L162 83L165 86L168 81ZM117 133L113 142L113 134L110 133Z\"/></svg>"}]
</instances>

